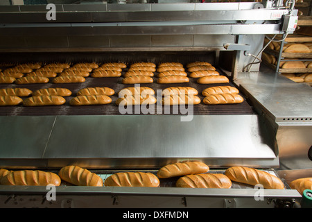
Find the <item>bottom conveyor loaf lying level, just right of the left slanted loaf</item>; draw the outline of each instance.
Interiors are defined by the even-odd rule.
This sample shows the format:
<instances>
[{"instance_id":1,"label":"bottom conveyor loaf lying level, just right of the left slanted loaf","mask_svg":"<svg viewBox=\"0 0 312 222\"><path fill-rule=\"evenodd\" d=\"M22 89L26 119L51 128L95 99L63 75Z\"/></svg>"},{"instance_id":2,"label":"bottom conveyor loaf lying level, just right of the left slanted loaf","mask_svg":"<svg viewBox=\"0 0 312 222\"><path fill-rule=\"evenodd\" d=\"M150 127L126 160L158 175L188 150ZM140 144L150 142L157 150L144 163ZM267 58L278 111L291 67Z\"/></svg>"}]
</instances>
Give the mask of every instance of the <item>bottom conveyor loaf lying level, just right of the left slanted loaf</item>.
<instances>
[{"instance_id":1,"label":"bottom conveyor loaf lying level, just right of the left slanted loaf","mask_svg":"<svg viewBox=\"0 0 312 222\"><path fill-rule=\"evenodd\" d=\"M159 187L159 179L153 173L120 172L104 181L105 187Z\"/></svg>"}]
</instances>

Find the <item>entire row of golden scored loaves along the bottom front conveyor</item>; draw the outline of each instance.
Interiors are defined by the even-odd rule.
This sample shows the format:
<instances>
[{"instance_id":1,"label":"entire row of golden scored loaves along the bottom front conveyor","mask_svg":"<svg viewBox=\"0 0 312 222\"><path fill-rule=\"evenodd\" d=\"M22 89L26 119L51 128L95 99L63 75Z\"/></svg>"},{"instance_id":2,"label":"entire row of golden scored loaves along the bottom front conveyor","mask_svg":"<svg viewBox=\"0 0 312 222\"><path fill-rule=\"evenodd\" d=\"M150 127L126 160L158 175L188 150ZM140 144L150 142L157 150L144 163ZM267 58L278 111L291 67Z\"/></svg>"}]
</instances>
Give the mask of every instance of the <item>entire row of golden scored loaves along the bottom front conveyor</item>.
<instances>
[{"instance_id":1,"label":"entire row of golden scored loaves along the bottom front conveyor","mask_svg":"<svg viewBox=\"0 0 312 222\"><path fill-rule=\"evenodd\" d=\"M103 182L96 173L74 165L62 167L58 174L39 170L0 169L0 185L60 186L64 180L76 186L159 187L159 180L176 178L175 187L229 189L232 182L239 182L252 186L261 185L265 189L285 189L280 178L259 169L229 167L224 173L209 173L209 170L209 166L203 162L177 162L161 167L156 174L140 171L118 172L108 176ZM302 194L304 189L312 189L312 178L293 180L290 187Z\"/></svg>"}]
</instances>

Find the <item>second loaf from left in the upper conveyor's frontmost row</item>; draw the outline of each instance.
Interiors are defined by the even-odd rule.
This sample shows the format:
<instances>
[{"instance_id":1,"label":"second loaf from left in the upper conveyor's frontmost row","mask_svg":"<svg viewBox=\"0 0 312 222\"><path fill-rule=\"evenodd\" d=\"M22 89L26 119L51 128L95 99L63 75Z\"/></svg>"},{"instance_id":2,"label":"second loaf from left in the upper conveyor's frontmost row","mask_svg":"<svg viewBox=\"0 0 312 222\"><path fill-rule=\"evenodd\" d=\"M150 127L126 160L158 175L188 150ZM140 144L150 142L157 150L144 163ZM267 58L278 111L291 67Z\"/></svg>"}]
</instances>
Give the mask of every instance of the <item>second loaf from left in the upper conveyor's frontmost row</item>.
<instances>
[{"instance_id":1,"label":"second loaf from left in the upper conveyor's frontmost row","mask_svg":"<svg viewBox=\"0 0 312 222\"><path fill-rule=\"evenodd\" d=\"M31 96L23 101L24 106L63 105L66 100L62 96Z\"/></svg>"}]
</instances>

